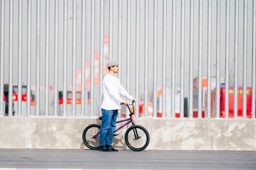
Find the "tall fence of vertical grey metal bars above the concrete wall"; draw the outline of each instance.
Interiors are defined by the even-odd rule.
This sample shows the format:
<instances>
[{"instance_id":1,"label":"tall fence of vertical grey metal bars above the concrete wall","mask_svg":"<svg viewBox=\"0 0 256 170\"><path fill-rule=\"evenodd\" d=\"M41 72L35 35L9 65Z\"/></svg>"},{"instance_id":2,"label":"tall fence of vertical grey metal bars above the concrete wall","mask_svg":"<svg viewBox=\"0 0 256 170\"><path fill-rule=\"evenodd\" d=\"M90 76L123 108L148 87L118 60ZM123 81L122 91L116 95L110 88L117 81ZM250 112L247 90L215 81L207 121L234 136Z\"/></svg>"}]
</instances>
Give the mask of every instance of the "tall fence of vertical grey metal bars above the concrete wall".
<instances>
[{"instance_id":1,"label":"tall fence of vertical grey metal bars above the concrete wall","mask_svg":"<svg viewBox=\"0 0 256 170\"><path fill-rule=\"evenodd\" d=\"M255 118L256 0L1 0L0 23L0 116L100 115L114 58L136 117Z\"/></svg>"}]
</instances>

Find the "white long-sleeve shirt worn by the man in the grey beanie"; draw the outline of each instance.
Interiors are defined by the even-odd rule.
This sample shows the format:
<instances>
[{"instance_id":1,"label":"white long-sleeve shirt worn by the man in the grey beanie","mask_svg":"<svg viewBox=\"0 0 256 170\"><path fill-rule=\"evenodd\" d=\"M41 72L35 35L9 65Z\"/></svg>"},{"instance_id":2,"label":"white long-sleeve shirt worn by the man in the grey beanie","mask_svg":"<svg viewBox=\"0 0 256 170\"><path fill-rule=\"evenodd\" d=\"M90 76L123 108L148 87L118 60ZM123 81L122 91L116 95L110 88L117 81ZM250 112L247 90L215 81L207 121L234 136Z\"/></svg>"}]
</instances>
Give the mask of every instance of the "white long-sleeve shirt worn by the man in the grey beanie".
<instances>
[{"instance_id":1,"label":"white long-sleeve shirt worn by the man in the grey beanie","mask_svg":"<svg viewBox=\"0 0 256 170\"><path fill-rule=\"evenodd\" d=\"M125 98L131 100L132 96L124 89L120 84L119 79L111 74L107 74L103 78L102 82L103 102L101 108L105 110L117 110L121 109L120 103L123 102L123 98L119 96L121 94Z\"/></svg>"}]
</instances>

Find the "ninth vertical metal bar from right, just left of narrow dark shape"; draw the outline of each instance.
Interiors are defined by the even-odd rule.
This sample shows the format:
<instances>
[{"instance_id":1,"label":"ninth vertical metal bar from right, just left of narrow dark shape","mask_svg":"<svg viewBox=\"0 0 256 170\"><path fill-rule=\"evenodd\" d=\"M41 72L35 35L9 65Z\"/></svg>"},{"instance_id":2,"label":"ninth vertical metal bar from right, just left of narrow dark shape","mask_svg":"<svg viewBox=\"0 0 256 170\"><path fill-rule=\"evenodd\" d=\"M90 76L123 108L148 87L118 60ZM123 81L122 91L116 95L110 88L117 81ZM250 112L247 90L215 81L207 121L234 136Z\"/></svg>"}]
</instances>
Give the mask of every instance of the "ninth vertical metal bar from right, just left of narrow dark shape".
<instances>
[{"instance_id":1,"label":"ninth vertical metal bar from right, just left of narrow dark shape","mask_svg":"<svg viewBox=\"0 0 256 170\"><path fill-rule=\"evenodd\" d=\"M184 118L184 56L185 56L185 0L181 1L181 36L180 36L180 117Z\"/></svg>"}]
</instances>

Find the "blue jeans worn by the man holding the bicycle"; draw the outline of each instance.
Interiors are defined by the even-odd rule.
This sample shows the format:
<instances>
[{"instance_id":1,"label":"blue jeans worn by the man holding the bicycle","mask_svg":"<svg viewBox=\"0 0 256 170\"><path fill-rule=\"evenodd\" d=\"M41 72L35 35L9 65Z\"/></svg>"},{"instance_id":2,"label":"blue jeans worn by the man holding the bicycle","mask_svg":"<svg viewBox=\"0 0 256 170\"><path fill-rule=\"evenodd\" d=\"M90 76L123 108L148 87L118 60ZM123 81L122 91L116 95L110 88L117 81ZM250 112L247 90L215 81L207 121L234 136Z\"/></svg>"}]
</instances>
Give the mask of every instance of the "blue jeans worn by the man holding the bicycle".
<instances>
[{"instance_id":1,"label":"blue jeans worn by the man holding the bicycle","mask_svg":"<svg viewBox=\"0 0 256 170\"><path fill-rule=\"evenodd\" d=\"M99 138L99 145L111 145L113 134L116 129L118 110L105 110L101 108L102 123Z\"/></svg>"}]
</instances>

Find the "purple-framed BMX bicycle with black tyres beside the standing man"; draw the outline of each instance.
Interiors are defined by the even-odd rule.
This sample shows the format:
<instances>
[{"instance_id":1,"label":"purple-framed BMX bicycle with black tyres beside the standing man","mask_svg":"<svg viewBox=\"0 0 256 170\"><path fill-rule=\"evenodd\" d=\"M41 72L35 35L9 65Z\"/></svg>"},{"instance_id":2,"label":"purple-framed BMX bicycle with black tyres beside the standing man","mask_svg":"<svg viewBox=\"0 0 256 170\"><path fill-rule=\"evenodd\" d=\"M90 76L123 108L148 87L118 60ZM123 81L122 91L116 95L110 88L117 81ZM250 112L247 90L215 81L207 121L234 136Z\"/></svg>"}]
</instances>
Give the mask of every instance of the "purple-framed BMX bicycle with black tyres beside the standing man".
<instances>
[{"instance_id":1,"label":"purple-framed BMX bicycle with black tyres beside the standing man","mask_svg":"<svg viewBox=\"0 0 256 170\"><path fill-rule=\"evenodd\" d=\"M129 118L117 121L117 123L121 123L124 121L127 121L124 125L121 125L118 129L115 130L117 132L121 128L124 128L126 125L131 123L131 126L126 130L126 133L124 135L124 140L128 148L134 151L141 151L147 148L148 143L149 143L149 133L148 131L140 126L140 125L135 125L132 115L134 114L134 101L132 101L132 111L130 110L129 106L127 104L128 110L130 111ZM121 103L121 105L124 103ZM99 117L101 120L101 117ZM91 124L88 125L84 130L83 130L83 143L90 149L92 150L98 150L99 149L99 132L100 132L101 126L98 124ZM118 134L115 134L113 136L117 136Z\"/></svg>"}]
</instances>

